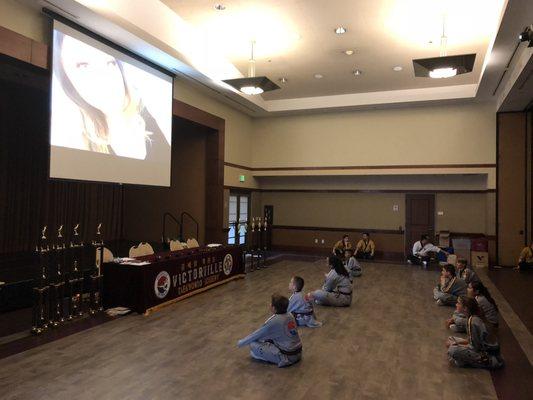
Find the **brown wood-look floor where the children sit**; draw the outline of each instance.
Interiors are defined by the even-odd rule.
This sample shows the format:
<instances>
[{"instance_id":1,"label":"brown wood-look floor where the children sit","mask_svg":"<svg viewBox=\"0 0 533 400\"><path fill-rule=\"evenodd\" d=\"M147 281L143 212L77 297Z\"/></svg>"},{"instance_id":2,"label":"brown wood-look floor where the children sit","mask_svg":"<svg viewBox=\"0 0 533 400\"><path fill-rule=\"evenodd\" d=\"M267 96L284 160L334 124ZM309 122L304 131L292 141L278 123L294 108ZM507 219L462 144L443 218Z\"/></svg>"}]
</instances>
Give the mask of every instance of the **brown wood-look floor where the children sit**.
<instances>
[{"instance_id":1,"label":"brown wood-look floor where the children sit","mask_svg":"<svg viewBox=\"0 0 533 400\"><path fill-rule=\"evenodd\" d=\"M281 261L148 317L127 316L0 360L8 399L496 399L490 373L448 365L437 272L364 264L352 307L317 307L301 363L252 361L239 338L268 317L294 274L322 283L322 261Z\"/></svg>"}]
</instances>

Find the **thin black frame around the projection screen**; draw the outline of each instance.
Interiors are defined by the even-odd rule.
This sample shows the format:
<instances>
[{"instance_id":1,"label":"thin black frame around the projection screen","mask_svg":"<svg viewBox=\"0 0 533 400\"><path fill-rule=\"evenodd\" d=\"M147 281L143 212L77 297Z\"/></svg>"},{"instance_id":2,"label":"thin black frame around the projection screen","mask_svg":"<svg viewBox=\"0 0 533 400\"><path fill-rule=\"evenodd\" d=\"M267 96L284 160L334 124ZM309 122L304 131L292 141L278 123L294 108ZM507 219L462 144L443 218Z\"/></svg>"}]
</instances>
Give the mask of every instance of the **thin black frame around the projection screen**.
<instances>
[{"instance_id":1,"label":"thin black frame around the projection screen","mask_svg":"<svg viewBox=\"0 0 533 400\"><path fill-rule=\"evenodd\" d=\"M51 177L50 176L50 172L51 172L51 156L52 156L52 124L51 124L51 121L52 121L52 85L53 85L53 70L54 70L54 57L53 57L53 52L54 52L54 46L53 46L53 37L54 37L54 21L58 21L66 26L68 26L69 28L71 29L74 29L86 36L89 36L91 39L94 39L110 48L112 48L113 50L115 51L118 51L120 53L123 53L125 54L126 56L128 57L131 57L133 58L134 60L148 66L148 67L151 67L153 69L155 69L156 71L164 74L164 75L167 75L168 77L171 78L171 81L172 81L172 101L174 101L174 88L175 88L175 85L174 85L174 80L176 78L176 74L173 73L173 72L170 72L169 70L163 68L162 66L158 65L158 64L155 64L153 63L152 61L138 55L137 53L134 53L133 51L125 48L125 47L122 47L118 44L116 44L115 42L99 35L98 33L96 32L93 32L77 23L75 23L74 21L60 15L60 14L57 14L56 12L48 9L48 8L43 8L42 9L42 12L49 16L51 19L52 19L52 23L50 24L49 26L49 38L50 38L50 45L48 46L48 60L49 60L49 65L48 65L48 69L50 71L50 74L49 74L49 77L50 77L50 81L49 81L49 86L48 86L48 91L49 91L49 96L48 96L48 105L49 105L49 123L48 123L48 180L49 181L58 181L58 182L73 182L73 183L91 183L91 184L94 184L94 183L98 183L98 184L103 184L103 185L118 185L118 186L135 186L135 187L147 187L147 188L161 188L161 189L170 189L172 187L172 131L173 131L173 127L174 127L174 113L172 112L171 114L171 131L170 131L170 176L169 176L169 184L168 186L162 186L162 185L150 185L150 184L147 184L147 183L126 183L126 182L113 182L113 181L98 181L98 180L89 180L89 179L75 179L75 178L58 178L58 177Z\"/></svg>"}]
</instances>

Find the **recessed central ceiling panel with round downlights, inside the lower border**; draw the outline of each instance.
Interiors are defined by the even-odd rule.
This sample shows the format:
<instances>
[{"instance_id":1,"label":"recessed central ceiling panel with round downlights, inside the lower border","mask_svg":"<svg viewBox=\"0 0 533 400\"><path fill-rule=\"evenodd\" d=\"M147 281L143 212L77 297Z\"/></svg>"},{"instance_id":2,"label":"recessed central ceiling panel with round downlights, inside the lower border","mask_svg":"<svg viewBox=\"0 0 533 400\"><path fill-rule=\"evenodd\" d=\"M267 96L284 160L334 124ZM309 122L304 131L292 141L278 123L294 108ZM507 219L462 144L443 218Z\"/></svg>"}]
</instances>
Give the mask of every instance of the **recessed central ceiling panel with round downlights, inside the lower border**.
<instances>
[{"instance_id":1,"label":"recessed central ceiling panel with round downlights, inside the lower border","mask_svg":"<svg viewBox=\"0 0 533 400\"><path fill-rule=\"evenodd\" d=\"M475 84L503 0L161 0L198 28L243 74L256 41L258 75L280 84L265 100ZM448 55L476 53L474 71L416 78L412 59L436 57L443 17ZM334 33L343 26L347 32ZM352 49L348 56L343 50ZM400 72L393 71L401 66ZM355 76L359 69L362 74ZM314 78L315 74L322 79Z\"/></svg>"}]
</instances>

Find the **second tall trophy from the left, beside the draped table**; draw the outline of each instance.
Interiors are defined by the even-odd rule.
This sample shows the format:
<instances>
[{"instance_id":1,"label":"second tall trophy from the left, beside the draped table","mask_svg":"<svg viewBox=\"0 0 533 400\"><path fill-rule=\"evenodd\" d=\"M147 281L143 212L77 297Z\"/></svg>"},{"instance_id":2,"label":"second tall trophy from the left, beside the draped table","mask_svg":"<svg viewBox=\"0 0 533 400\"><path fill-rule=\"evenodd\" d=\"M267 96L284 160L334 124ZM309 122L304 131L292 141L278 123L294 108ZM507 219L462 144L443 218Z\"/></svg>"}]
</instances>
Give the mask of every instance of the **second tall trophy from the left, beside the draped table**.
<instances>
[{"instance_id":1,"label":"second tall trophy from the left, beside the draped table","mask_svg":"<svg viewBox=\"0 0 533 400\"><path fill-rule=\"evenodd\" d=\"M65 279L63 268L65 265L65 238L63 236L63 225L57 230L57 243L52 246L55 264L55 276L50 284L50 325L56 328L65 322L63 302L65 298Z\"/></svg>"}]
</instances>

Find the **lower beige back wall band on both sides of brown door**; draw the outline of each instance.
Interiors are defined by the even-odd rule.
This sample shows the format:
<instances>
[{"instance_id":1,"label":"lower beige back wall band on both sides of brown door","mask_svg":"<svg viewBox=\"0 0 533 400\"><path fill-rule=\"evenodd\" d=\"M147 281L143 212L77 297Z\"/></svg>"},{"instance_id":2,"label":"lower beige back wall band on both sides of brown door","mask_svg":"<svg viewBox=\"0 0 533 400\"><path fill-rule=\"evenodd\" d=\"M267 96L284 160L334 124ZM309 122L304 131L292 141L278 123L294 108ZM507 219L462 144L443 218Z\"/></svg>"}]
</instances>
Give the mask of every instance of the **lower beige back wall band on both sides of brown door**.
<instances>
[{"instance_id":1,"label":"lower beige back wall band on both sides of brown door","mask_svg":"<svg viewBox=\"0 0 533 400\"><path fill-rule=\"evenodd\" d=\"M494 193L437 193L435 230L494 234ZM274 206L274 224L395 230L405 227L403 193L262 192L252 208ZM254 205L255 203L255 205ZM393 206L398 205L398 211ZM437 215L443 211L444 215Z\"/></svg>"}]
</instances>

